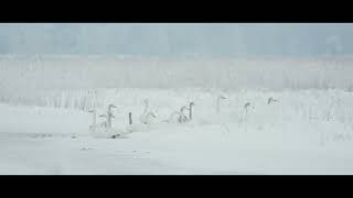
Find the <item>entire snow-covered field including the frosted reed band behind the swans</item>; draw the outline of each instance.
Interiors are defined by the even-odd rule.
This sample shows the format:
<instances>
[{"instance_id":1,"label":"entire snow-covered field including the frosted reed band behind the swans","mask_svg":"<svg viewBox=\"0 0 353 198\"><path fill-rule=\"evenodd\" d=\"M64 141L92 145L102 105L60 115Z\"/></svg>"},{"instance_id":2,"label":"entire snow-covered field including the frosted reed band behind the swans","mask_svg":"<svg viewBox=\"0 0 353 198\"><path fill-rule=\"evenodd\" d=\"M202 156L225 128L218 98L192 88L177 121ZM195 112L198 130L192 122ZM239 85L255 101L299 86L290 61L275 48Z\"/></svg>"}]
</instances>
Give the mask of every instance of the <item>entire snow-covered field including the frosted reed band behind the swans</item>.
<instances>
[{"instance_id":1,"label":"entire snow-covered field including the frosted reed band behind the swans","mask_svg":"<svg viewBox=\"0 0 353 198\"><path fill-rule=\"evenodd\" d=\"M350 58L0 58L0 174L353 174ZM124 139L89 131L109 103Z\"/></svg>"}]
</instances>

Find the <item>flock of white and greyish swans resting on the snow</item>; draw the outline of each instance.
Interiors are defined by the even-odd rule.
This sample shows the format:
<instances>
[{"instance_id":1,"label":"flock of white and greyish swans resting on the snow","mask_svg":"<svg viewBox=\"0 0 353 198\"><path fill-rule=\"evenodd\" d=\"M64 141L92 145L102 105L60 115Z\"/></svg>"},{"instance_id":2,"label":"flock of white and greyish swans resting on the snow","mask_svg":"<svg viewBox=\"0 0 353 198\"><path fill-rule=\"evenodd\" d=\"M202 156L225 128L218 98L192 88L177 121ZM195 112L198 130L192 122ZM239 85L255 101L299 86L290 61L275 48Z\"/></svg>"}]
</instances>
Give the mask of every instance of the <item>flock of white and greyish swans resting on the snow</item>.
<instances>
[{"instance_id":1,"label":"flock of white and greyish swans resting on the snow","mask_svg":"<svg viewBox=\"0 0 353 198\"><path fill-rule=\"evenodd\" d=\"M224 95L220 95L216 100L216 112L221 112L221 100L227 99ZM271 102L276 102L278 100L270 97L267 101L268 105ZM97 111L95 109L89 110L88 112L93 114L93 123L89 125L90 133L96 138L124 138L125 134L131 133L133 131L141 131L142 128L150 125L150 123L156 119L156 114L153 111L149 110L149 100L145 99L145 109L143 112L139 117L140 123L133 123L132 122L132 113L129 112L129 124L125 129L117 129L113 128L111 120L115 118L113 114L113 109L116 109L117 107L114 105L108 106L108 111L105 114L100 114L99 118L104 118L104 121L97 122ZM191 122L193 119L193 107L195 103L191 101L186 106L182 106L179 111L173 111L169 119L162 120L162 122L167 123L188 123ZM250 102L246 102L244 106L244 110L248 112L248 108L250 108ZM189 114L188 114L189 111Z\"/></svg>"}]
</instances>

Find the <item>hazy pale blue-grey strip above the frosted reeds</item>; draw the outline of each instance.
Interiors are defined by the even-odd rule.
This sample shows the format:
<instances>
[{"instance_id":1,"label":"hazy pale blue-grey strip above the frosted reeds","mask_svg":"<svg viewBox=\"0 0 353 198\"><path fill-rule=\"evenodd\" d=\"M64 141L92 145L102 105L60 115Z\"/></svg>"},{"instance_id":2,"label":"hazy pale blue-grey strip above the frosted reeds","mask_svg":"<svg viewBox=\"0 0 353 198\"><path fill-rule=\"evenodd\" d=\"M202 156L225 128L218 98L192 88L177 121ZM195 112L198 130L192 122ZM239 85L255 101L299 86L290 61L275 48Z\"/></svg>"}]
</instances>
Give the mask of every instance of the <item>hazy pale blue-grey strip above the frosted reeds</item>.
<instances>
[{"instance_id":1,"label":"hazy pale blue-grey strip above the frosted reeds","mask_svg":"<svg viewBox=\"0 0 353 198\"><path fill-rule=\"evenodd\" d=\"M353 54L350 23L0 24L2 54Z\"/></svg>"}]
</instances>

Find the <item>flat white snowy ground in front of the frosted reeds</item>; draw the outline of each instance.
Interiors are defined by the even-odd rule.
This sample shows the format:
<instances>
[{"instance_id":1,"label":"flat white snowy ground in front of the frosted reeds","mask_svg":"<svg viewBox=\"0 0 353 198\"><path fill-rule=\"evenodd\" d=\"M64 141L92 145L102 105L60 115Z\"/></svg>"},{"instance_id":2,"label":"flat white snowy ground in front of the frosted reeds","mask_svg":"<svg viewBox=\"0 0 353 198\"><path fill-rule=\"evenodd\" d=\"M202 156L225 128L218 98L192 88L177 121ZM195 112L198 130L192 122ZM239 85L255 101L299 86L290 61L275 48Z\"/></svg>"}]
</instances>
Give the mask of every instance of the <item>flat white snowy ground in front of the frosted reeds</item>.
<instances>
[{"instance_id":1,"label":"flat white snowy ground in front of the frosted reeds","mask_svg":"<svg viewBox=\"0 0 353 198\"><path fill-rule=\"evenodd\" d=\"M0 174L353 174L353 94L345 90L98 91L99 113L118 107L114 128L125 130L132 112L126 139L93 138L89 102L64 106L67 91L58 92L56 108L0 103ZM227 99L216 113L220 94ZM268 105L269 97L279 101ZM146 98L157 116L149 127L138 120ZM190 101L192 122L163 122Z\"/></svg>"}]
</instances>

